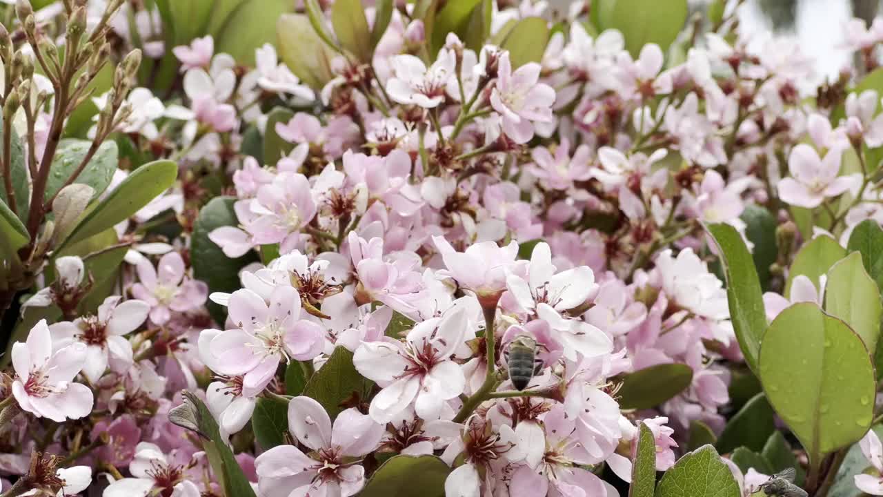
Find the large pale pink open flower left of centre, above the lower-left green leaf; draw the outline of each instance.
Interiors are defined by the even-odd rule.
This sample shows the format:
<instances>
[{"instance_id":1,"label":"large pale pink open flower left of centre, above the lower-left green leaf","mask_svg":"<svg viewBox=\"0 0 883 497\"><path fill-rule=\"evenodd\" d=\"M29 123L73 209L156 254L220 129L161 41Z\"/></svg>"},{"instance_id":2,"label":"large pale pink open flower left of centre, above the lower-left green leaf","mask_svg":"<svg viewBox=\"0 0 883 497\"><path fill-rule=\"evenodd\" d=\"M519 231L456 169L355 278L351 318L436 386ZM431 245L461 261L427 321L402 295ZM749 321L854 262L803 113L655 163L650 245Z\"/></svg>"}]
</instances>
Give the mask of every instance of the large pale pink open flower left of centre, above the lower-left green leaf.
<instances>
[{"instance_id":1,"label":"large pale pink open flower left of centre, above the lower-left green leaf","mask_svg":"<svg viewBox=\"0 0 883 497\"><path fill-rule=\"evenodd\" d=\"M253 392L246 396L267 386L280 361L306 361L322 351L325 333L301 318L300 295L293 287L275 287L269 302L252 290L237 290L227 309L238 329L218 333L208 343L216 358L209 365L225 375L244 375L241 388Z\"/></svg>"}]
</instances>

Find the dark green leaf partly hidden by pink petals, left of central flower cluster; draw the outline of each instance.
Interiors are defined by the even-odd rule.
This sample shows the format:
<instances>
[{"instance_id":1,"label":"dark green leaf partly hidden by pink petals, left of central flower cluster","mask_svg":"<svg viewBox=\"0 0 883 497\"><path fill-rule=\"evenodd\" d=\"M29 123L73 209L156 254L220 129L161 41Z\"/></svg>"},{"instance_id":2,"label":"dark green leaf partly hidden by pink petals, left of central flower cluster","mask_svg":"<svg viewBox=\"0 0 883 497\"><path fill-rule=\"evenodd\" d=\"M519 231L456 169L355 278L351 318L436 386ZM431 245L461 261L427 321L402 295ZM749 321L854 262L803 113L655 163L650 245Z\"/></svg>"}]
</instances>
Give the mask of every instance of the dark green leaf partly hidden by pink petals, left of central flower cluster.
<instances>
[{"instance_id":1,"label":"dark green leaf partly hidden by pink petals, left of central flower cluster","mask_svg":"<svg viewBox=\"0 0 883 497\"><path fill-rule=\"evenodd\" d=\"M208 239L208 233L221 226L237 226L238 221L233 204L236 199L229 196L218 196L208 201L200 210L200 215L193 225L190 258L193 265L193 276L208 285L209 292L234 292L241 288L239 270L245 264L258 260L257 254L250 251L245 256L230 259L223 250ZM227 317L227 308L208 302L208 312L215 322L223 323Z\"/></svg>"}]
</instances>

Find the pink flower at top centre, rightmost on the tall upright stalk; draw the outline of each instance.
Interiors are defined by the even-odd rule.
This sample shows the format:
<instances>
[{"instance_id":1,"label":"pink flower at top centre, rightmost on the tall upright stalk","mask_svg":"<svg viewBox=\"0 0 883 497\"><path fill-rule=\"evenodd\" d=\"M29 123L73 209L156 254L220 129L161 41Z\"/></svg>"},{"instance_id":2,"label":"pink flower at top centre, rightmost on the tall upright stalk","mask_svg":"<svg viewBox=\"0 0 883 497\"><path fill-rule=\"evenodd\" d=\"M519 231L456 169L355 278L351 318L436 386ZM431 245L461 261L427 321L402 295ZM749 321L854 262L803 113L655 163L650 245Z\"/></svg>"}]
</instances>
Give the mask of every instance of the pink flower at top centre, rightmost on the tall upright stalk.
<instances>
[{"instance_id":1,"label":"pink flower at top centre, rightmost on the tall upright stalk","mask_svg":"<svg viewBox=\"0 0 883 497\"><path fill-rule=\"evenodd\" d=\"M491 93L491 105L502 116L502 130L516 143L533 137L531 121L551 122L555 90L542 84L539 64L529 62L512 72L509 52L498 61L497 80Z\"/></svg>"}]
</instances>

